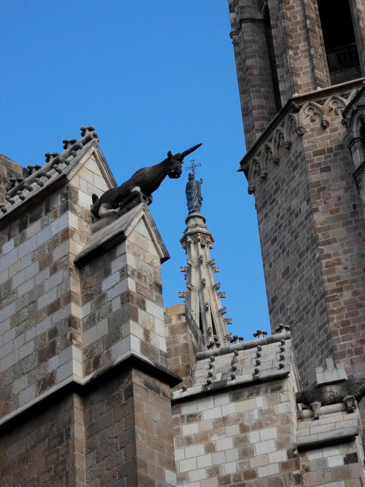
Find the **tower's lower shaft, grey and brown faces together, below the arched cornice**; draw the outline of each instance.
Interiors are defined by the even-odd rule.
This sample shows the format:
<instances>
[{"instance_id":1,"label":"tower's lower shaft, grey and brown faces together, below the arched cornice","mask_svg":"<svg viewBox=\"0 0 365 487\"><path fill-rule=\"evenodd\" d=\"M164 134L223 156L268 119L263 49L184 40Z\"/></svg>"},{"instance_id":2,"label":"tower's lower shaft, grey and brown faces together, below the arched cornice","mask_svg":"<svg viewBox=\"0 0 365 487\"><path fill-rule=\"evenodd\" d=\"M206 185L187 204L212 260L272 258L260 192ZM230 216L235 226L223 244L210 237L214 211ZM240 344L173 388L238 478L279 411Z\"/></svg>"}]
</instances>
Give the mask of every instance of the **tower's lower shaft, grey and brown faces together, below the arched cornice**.
<instances>
[{"instance_id":1,"label":"tower's lower shaft, grey and brown faces together, below the arched cornice","mask_svg":"<svg viewBox=\"0 0 365 487\"><path fill-rule=\"evenodd\" d=\"M365 371L363 205L330 106L303 106L304 135L255 189L271 325L291 325L303 385L332 355L349 375Z\"/></svg>"}]
</instances>

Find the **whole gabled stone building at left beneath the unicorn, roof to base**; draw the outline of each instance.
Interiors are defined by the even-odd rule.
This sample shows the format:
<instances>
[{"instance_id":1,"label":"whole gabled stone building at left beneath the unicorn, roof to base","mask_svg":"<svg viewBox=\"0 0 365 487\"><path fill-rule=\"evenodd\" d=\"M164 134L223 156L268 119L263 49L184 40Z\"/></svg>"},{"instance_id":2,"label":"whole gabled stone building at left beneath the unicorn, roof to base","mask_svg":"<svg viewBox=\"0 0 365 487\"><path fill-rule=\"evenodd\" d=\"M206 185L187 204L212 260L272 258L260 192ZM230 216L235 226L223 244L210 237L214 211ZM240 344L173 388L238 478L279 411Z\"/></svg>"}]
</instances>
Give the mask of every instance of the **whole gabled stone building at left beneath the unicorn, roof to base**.
<instances>
[{"instance_id":1,"label":"whole gabled stone building at left beneath the unicorn, roof to base","mask_svg":"<svg viewBox=\"0 0 365 487\"><path fill-rule=\"evenodd\" d=\"M175 485L169 255L144 204L92 233L116 183L81 131L43 166L0 160L0 483Z\"/></svg>"}]
</instances>

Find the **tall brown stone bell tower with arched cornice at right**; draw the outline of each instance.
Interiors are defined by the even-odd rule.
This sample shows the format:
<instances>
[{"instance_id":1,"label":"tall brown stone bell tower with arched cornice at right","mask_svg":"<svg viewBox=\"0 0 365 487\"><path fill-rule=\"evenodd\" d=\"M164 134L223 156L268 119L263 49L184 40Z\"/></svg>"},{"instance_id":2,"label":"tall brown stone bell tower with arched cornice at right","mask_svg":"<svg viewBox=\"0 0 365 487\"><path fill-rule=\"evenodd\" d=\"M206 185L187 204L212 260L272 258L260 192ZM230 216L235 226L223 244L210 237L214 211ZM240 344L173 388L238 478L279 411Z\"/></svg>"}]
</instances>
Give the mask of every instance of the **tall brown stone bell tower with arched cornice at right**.
<instances>
[{"instance_id":1,"label":"tall brown stone bell tower with arched cornice at right","mask_svg":"<svg viewBox=\"0 0 365 487\"><path fill-rule=\"evenodd\" d=\"M272 329L304 386L328 357L364 377L364 2L228 3Z\"/></svg>"}]
</instances>

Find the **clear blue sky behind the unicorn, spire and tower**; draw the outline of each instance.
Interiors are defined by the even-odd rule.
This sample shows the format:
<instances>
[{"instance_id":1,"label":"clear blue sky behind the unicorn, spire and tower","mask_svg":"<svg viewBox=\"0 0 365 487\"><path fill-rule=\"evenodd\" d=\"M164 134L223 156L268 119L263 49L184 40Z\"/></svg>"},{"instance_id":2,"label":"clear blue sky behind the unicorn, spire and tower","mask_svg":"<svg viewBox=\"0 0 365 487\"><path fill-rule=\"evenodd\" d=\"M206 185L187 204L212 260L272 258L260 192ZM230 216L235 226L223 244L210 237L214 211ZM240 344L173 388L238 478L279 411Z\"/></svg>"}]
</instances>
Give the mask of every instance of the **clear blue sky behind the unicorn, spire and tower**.
<instances>
[{"instance_id":1,"label":"clear blue sky behind the unicorn, spire and tower","mask_svg":"<svg viewBox=\"0 0 365 487\"><path fill-rule=\"evenodd\" d=\"M0 152L26 166L95 125L118 184L138 168L203 143L202 213L231 331L269 329L226 0L14 0L1 8ZM188 158L189 159L189 158ZM185 281L185 184L166 179L150 206L171 259L166 306Z\"/></svg>"}]
</instances>

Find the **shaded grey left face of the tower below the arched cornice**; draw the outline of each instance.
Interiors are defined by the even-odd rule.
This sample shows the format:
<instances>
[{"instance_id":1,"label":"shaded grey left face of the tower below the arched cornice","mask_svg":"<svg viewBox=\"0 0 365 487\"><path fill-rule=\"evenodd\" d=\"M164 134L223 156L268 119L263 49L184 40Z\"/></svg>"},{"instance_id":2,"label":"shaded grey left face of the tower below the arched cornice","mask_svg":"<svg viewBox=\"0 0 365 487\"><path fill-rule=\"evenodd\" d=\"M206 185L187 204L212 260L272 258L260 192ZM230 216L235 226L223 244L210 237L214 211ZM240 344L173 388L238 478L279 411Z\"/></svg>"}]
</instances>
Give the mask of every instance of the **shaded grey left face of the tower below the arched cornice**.
<instances>
[{"instance_id":1,"label":"shaded grey left face of the tower below the arched cornice","mask_svg":"<svg viewBox=\"0 0 365 487\"><path fill-rule=\"evenodd\" d=\"M255 204L272 330L290 325L302 384L332 354L303 141L271 164Z\"/></svg>"}]
</instances>

